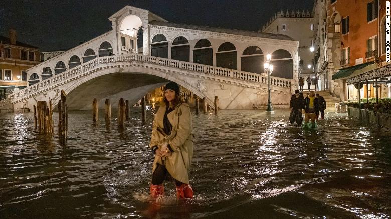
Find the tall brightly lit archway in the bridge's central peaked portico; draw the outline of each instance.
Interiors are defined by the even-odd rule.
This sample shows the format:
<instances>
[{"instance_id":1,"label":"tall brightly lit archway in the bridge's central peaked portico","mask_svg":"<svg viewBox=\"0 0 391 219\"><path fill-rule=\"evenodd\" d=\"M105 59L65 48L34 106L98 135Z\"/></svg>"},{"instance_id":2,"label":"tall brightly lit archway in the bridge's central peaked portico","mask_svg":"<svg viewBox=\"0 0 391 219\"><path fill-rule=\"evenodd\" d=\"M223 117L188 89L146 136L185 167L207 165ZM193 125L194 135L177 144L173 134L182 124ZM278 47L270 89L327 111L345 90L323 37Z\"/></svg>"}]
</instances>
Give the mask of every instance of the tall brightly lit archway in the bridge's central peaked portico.
<instances>
[{"instance_id":1,"label":"tall brightly lit archway in the bridge's central peaked portico","mask_svg":"<svg viewBox=\"0 0 391 219\"><path fill-rule=\"evenodd\" d=\"M139 39L137 39L140 30L142 35L142 26L141 19L136 15L126 16L120 25L120 34L119 39L121 42L121 54L127 53L137 53L139 45ZM141 37L141 47L142 47L142 37Z\"/></svg>"}]
</instances>

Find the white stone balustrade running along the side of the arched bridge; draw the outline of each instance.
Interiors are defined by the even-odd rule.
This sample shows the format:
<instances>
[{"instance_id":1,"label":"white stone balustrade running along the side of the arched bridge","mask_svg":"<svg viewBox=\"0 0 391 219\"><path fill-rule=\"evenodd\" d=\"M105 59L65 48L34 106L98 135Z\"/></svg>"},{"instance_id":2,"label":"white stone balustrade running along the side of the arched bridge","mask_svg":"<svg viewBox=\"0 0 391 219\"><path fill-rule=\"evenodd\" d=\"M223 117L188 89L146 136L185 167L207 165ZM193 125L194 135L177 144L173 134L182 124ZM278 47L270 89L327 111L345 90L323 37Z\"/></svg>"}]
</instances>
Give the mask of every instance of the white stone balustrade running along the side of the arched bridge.
<instances>
[{"instance_id":1,"label":"white stone balustrade running along the side of the arched bridge","mask_svg":"<svg viewBox=\"0 0 391 219\"><path fill-rule=\"evenodd\" d=\"M222 77L234 78L234 79L243 80L247 82L253 82L255 84L257 83L267 84L267 74L264 73L256 74L256 73L232 70L232 69L221 68L221 67L214 67L214 66L197 64L197 63L189 63L185 61L178 61L178 60L172 60L172 59L160 58L160 57L154 57L154 56L142 55L142 54L123 54L123 55L116 55L116 56L98 57L87 63L84 63L82 65L69 69L65 72L62 72L54 77L48 78L44 81L29 86L19 92L13 93L10 95L10 99L12 101L13 99L16 98L24 98L32 93L49 89L52 86L52 84L60 83L69 78L74 78L77 74L80 74L82 72L87 72L90 69L94 67L98 67L100 65L116 63L116 62L130 62L130 61L140 61L140 62L156 64L160 66L173 67L173 68L184 69L189 71L197 71L205 74L211 74L211 75L217 75ZM284 79L284 78L273 77L273 76L270 77L270 84L272 86L277 86L277 87L290 88L291 81L292 80L290 79Z\"/></svg>"}]
</instances>

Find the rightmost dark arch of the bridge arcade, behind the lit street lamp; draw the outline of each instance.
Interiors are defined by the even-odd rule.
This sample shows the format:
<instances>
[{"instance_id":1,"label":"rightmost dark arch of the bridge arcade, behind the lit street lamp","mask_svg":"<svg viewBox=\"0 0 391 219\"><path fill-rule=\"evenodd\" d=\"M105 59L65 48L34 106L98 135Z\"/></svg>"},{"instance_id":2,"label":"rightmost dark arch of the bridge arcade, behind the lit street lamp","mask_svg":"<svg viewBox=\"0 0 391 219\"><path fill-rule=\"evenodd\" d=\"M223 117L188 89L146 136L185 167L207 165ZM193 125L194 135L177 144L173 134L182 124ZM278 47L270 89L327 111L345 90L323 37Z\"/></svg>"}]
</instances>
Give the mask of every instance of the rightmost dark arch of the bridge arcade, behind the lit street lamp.
<instances>
[{"instance_id":1,"label":"rightmost dark arch of the bridge arcade, behind the lit street lamp","mask_svg":"<svg viewBox=\"0 0 391 219\"><path fill-rule=\"evenodd\" d=\"M271 62L274 66L272 76L293 79L293 59L289 51L284 49L274 51Z\"/></svg>"}]
</instances>

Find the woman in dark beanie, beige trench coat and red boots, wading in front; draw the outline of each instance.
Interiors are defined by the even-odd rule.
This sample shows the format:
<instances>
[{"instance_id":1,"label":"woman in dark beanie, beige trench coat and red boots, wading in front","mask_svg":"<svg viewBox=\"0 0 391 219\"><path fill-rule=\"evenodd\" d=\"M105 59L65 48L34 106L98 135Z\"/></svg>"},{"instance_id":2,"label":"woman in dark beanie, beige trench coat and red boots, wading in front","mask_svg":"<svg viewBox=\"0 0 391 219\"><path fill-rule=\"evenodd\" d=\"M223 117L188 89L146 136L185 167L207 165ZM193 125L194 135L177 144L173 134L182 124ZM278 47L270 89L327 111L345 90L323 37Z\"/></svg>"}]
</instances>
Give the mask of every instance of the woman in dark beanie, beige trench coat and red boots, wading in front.
<instances>
[{"instance_id":1,"label":"woman in dark beanie, beige trench coat and red boots, wading in front","mask_svg":"<svg viewBox=\"0 0 391 219\"><path fill-rule=\"evenodd\" d=\"M178 199L192 198L188 177L193 156L190 108L181 101L179 85L174 82L165 86L163 100L153 120L149 144L155 154L150 194L152 198L164 195L163 182L171 175Z\"/></svg>"}]
</instances>

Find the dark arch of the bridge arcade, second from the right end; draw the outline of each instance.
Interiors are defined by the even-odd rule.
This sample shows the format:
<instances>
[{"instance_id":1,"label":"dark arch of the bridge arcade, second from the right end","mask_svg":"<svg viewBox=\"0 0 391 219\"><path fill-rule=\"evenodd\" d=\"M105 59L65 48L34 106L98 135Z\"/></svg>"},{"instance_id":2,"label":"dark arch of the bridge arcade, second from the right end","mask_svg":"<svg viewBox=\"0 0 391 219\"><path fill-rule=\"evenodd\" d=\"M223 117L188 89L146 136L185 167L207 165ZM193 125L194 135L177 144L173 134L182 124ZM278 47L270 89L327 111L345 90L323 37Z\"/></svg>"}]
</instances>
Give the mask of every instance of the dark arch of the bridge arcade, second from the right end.
<instances>
[{"instance_id":1,"label":"dark arch of the bridge arcade, second from the right end","mask_svg":"<svg viewBox=\"0 0 391 219\"><path fill-rule=\"evenodd\" d=\"M241 61L242 71L259 74L264 72L264 56L262 50L258 46L247 47L243 51Z\"/></svg>"}]
</instances>

